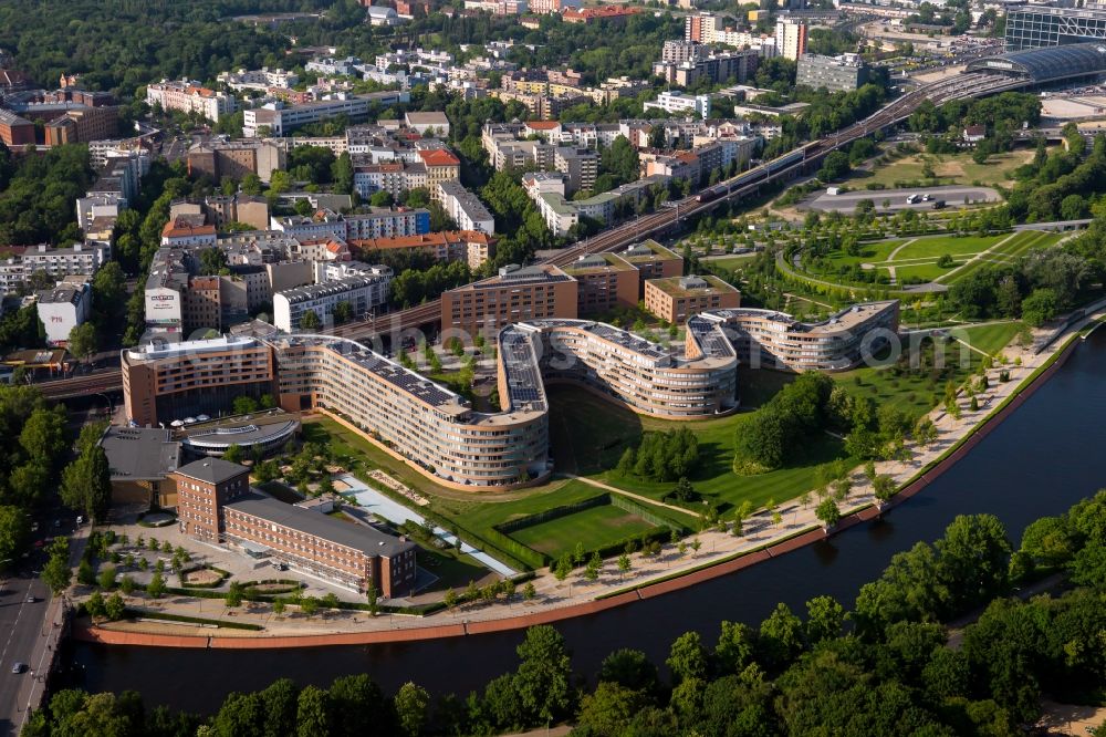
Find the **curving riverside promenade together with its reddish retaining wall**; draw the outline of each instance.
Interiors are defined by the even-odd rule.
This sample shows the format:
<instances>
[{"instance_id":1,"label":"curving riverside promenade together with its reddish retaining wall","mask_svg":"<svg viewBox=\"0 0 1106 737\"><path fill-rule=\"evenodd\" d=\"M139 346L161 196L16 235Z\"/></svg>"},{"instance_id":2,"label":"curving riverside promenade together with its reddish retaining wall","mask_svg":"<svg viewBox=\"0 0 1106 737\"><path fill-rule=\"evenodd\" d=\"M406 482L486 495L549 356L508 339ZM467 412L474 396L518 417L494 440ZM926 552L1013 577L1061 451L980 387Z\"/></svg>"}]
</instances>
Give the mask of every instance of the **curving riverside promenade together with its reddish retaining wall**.
<instances>
[{"instance_id":1,"label":"curving riverside promenade together with its reddish retaining wall","mask_svg":"<svg viewBox=\"0 0 1106 737\"><path fill-rule=\"evenodd\" d=\"M74 634L103 643L177 647L294 647L425 640L555 622L695 585L873 519L921 491L1043 384L1078 342L1078 332L1104 314L1106 310L1068 325L1040 353L1032 347L1008 346L1002 352L1004 360L995 362L987 372L988 387L975 392L977 409L971 409L970 397L959 396L959 417L948 414L943 406L930 413L937 428L933 442L925 446L908 444L905 459L876 464L877 474L891 476L899 488L891 501L880 507L874 498L872 484L860 469L854 469L852 490L838 502L842 519L828 531L815 517L817 497L812 494L813 500L807 505L795 499L776 507L774 513L760 510L745 520L740 536L733 534L732 525L728 525L726 531L710 529L686 538L684 546L666 544L655 556L634 553L629 556L628 570L619 570L616 560L606 560L595 581L585 580L582 568L564 581L542 570L532 582L535 595L530 601L523 601L522 587L519 587L519 593L510 601L501 595L492 602L458 605L430 616L380 614L374 617L367 612L323 610L309 617L295 606L288 606L282 615L276 615L268 603L227 608L217 599L169 595L150 601L133 596L128 604L135 610L249 623L263 630L229 630L139 619L94 627L79 624ZM1034 338L1052 338L1053 332L1039 331ZM1009 372L1009 381L1001 381L1002 372ZM608 488L588 479L581 480Z\"/></svg>"}]
</instances>

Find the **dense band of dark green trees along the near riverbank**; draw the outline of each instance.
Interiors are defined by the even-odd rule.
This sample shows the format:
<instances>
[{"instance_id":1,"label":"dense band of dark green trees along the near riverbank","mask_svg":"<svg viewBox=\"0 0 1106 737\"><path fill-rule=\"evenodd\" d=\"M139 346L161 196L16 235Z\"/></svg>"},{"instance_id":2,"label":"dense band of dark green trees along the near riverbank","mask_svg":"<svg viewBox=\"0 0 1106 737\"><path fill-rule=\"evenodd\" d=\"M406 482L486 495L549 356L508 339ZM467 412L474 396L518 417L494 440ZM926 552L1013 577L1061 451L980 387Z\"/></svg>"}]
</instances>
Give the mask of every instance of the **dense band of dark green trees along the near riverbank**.
<instances>
[{"instance_id":1,"label":"dense band of dark green trees along the near riverbank","mask_svg":"<svg viewBox=\"0 0 1106 737\"><path fill-rule=\"evenodd\" d=\"M611 653L587 682L550 626L530 629L518 666L467 698L405 684L394 697L366 676L328 689L278 681L234 693L209 719L146 712L133 693L64 691L25 734L491 735L570 720L586 737L731 735L1016 735L1048 695L1097 703L1106 687L1106 491L1032 525L1012 551L992 516L956 518L941 539L896 556L849 612L816 596L759 624L722 621L717 640L677 637L662 677L638 650ZM1040 569L1070 571L1057 598L1005 599ZM979 606L952 647L946 622ZM849 626L849 623L855 626Z\"/></svg>"}]
</instances>

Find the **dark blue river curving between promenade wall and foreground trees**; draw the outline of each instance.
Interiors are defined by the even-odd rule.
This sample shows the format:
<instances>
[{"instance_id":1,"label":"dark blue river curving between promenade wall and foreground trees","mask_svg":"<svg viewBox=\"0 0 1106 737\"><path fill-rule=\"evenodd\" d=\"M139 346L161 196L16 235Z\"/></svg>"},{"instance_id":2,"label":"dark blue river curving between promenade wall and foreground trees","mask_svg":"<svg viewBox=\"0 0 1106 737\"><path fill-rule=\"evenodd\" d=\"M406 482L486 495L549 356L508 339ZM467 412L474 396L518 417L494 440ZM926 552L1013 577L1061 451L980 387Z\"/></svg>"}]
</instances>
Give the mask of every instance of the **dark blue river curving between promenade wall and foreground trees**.
<instances>
[{"instance_id":1,"label":"dark blue river curving between promenade wall and foreground trees","mask_svg":"<svg viewBox=\"0 0 1106 737\"><path fill-rule=\"evenodd\" d=\"M1066 510L1106 486L1097 454L1106 448L1106 331L1079 345L1046 385L967 458L883 520L826 542L675 593L559 623L577 672L591 677L618 647L662 663L672 640L698 630L713 643L721 620L755 625L778 602L801 611L831 594L849 608L862 584L891 556L940 537L957 515L991 512L1018 544L1026 525ZM282 651L163 650L73 643L72 682L96 691L135 689L148 706L218 708L231 691L252 691L288 676L326 685L368 673L386 691L415 681L432 693L462 696L512 669L522 632L358 647Z\"/></svg>"}]
</instances>

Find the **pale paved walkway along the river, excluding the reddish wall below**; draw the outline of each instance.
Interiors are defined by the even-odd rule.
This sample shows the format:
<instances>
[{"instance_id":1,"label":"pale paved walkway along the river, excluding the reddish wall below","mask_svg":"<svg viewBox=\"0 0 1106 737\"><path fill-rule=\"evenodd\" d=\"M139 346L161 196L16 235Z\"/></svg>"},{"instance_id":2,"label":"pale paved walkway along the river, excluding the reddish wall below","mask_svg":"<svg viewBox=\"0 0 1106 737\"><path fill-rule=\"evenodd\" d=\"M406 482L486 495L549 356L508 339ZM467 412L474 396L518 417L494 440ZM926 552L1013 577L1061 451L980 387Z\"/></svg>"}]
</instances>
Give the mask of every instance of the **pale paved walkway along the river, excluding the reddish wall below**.
<instances>
[{"instance_id":1,"label":"pale paved walkway along the river, excluding the reddish wall below","mask_svg":"<svg viewBox=\"0 0 1106 737\"><path fill-rule=\"evenodd\" d=\"M1106 311L1103 313L1106 313ZM1041 354L1035 355L1032 347L1009 346L1003 351L1003 355L1008 360L1006 363L995 365L988 372L989 388L977 394L979 409L972 412L969 406L970 399L964 396L958 399L962 413L960 419L946 414L943 407L935 409L930 413L929 417L938 430L936 442L926 447L908 444L909 459L877 463L876 471L879 475L890 475L895 478L898 486L904 485L922 467L937 459L968 435L1003 399L1013 395L1021 387L1022 382L1062 349L1066 336L1076 333L1095 316L1097 314L1070 325L1065 329L1064 334L1054 341L1048 349L1042 351ZM1014 365L1015 359L1021 359L1020 366ZM999 373L1003 370L1010 372L1010 381L1008 382L999 381ZM851 478L854 485L853 489L844 501L838 502L843 520L866 507L875 505L872 485L859 469L854 469ZM636 495L625 492L620 489L612 490L636 498ZM648 504L656 504L651 499L647 501ZM614 560L604 561L599 578L596 581L586 581L583 578L582 569L574 570L563 582L557 581L547 570L541 571L538 578L533 580L536 596L531 602L521 601L520 587L519 594L511 602L497 600L493 603L470 603L458 606L455 611L442 612L428 617L380 615L374 619L365 612L327 612L325 616L320 615L307 619L299 612L293 612L294 608L289 608L289 613L278 619L272 614L271 606L268 604L254 604L251 610L246 610L244 608L228 610L221 600L195 600L184 596L169 596L160 603L156 603L154 609L213 620L249 622L264 626L265 631L212 630L153 622L111 623L104 625L104 629L149 634L198 635L205 639L211 637L216 633L219 639L294 637L296 635L309 634L425 630L426 627L435 626L449 629L451 630L451 634L465 634L468 632L471 623L493 622L519 616L529 616L541 621L557 610L567 606L594 604L601 596L611 596L632 587L641 587L650 582L657 582L660 579L672 578L674 574L688 572L691 569L721 563L741 553L763 549L804 532L816 532L822 527L822 523L814 515L815 506L816 501L812 501L806 506L803 506L797 500L782 504L776 509L782 516L779 525L772 522L771 511L761 509L745 520L741 537L734 537L729 530L721 532L711 529L685 540L688 543L688 549L684 554L680 554L678 547L672 544L664 546L661 552L655 557L645 556L640 552L635 553L630 556L630 570L627 572L619 572ZM698 540L700 546L697 552L691 549L693 540ZM799 544L797 541L795 542ZM763 552L758 554L768 557L768 553ZM132 601L131 603L135 604L136 602ZM142 604L146 605L147 602L143 601ZM461 625L461 630L458 630L457 625ZM411 634L415 636L434 636Z\"/></svg>"}]
</instances>

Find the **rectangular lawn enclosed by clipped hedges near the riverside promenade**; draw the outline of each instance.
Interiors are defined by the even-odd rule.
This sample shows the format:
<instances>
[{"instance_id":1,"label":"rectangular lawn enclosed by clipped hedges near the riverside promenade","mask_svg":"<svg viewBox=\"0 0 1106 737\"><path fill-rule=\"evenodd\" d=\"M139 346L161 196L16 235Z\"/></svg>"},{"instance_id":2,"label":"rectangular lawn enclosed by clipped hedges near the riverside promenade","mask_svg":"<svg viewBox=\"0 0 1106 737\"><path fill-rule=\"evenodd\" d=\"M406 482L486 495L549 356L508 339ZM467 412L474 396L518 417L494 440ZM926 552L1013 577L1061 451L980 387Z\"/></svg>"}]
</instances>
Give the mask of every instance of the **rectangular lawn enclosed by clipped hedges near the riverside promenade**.
<instances>
[{"instance_id":1,"label":"rectangular lawn enclosed by clipped hedges near the riverside promenade","mask_svg":"<svg viewBox=\"0 0 1106 737\"><path fill-rule=\"evenodd\" d=\"M597 550L651 529L654 526L637 515L607 504L524 527L510 536L528 548L556 559L571 553L577 543L583 544L585 550Z\"/></svg>"}]
</instances>

